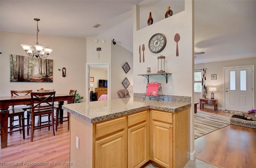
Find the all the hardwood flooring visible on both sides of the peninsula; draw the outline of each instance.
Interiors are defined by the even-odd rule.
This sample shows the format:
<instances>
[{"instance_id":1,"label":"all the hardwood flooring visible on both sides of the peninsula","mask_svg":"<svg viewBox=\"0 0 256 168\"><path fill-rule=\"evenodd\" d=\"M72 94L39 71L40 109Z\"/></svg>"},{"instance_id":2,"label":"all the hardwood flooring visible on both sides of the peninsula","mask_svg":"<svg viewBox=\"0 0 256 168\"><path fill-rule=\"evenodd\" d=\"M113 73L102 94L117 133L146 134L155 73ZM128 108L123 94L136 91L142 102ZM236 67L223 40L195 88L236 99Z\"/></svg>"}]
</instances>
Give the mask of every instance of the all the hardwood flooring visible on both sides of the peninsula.
<instances>
[{"instance_id":1,"label":"all the hardwood flooring visible on both sides of the peninsula","mask_svg":"<svg viewBox=\"0 0 256 168\"><path fill-rule=\"evenodd\" d=\"M199 108L198 108L199 110ZM213 109L202 109L208 113L231 116L223 111ZM253 168L256 167L256 129L242 126L230 125L195 140L196 161L190 161L188 168ZM201 162L200 160L204 161ZM22 139L19 132L8 136L8 147L0 149L0 167L5 166L3 162L28 162L38 164L47 163L48 166L15 166L18 168L68 168L69 162L69 131L67 122L58 127L55 136L47 128L36 130L34 142L30 142L30 136ZM53 163L53 165L49 165ZM59 165L58 165L59 164Z\"/></svg>"}]
</instances>

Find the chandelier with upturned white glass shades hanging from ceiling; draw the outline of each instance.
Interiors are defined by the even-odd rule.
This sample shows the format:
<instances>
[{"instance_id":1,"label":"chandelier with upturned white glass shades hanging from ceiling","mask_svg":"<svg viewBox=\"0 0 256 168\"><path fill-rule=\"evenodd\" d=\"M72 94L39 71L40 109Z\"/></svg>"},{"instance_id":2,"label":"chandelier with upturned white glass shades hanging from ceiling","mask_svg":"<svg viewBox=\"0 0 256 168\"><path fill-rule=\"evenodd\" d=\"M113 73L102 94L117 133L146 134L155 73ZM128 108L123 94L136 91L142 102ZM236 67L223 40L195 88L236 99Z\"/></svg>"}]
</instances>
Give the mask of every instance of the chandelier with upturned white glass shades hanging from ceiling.
<instances>
[{"instance_id":1,"label":"chandelier with upturned white glass shades hanging from ceiling","mask_svg":"<svg viewBox=\"0 0 256 168\"><path fill-rule=\"evenodd\" d=\"M36 29L36 42L34 42L34 46L32 47L31 45L26 45L26 44L20 44L24 51L26 51L27 55L30 57L36 57L36 58L46 58L48 55L52 52L52 49L50 48L45 48L40 43L38 42L38 21L40 19L34 18L34 20L37 22L37 29ZM46 53L46 55L44 55Z\"/></svg>"}]
</instances>

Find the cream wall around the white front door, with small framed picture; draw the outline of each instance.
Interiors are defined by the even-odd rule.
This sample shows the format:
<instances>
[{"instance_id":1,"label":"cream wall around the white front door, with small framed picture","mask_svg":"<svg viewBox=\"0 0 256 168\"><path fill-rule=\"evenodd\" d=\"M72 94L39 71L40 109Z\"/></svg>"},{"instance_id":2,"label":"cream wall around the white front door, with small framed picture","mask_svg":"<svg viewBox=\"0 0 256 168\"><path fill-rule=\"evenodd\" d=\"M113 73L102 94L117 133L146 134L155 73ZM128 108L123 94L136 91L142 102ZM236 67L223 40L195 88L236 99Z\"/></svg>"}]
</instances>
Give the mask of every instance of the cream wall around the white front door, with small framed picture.
<instances>
[{"instance_id":1,"label":"cream wall around the white front door, with small framed picture","mask_svg":"<svg viewBox=\"0 0 256 168\"><path fill-rule=\"evenodd\" d=\"M247 58L247 59L237 59L230 61L221 61L221 62L212 62L212 63L200 63L195 64L195 69L206 68L206 83L207 87L217 86L217 91L214 92L214 98L218 99L218 109L224 109L224 73L223 67L234 67L242 65L254 65L256 67L256 57ZM255 73L255 71L254 71ZM217 79L211 80L211 74L216 74ZM255 75L255 74L254 74ZM256 88L256 76L254 76L254 88ZM202 97L202 94L195 93L194 98L195 102L199 102L199 98ZM208 92L208 97L211 97L211 93ZM254 97L256 98L256 92L254 91ZM206 108L213 108L212 106L205 105ZM254 102L254 107L256 107L256 102Z\"/></svg>"}]
</instances>

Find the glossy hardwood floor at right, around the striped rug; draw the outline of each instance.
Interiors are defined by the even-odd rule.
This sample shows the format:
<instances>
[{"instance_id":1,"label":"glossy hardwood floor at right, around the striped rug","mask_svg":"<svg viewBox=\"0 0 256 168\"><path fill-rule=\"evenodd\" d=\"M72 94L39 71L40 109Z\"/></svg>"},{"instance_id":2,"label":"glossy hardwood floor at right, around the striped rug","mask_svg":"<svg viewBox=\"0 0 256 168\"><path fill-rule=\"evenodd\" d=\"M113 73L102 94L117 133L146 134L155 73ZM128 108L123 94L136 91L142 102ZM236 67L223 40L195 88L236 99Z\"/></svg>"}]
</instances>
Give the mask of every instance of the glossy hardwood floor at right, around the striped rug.
<instances>
[{"instance_id":1,"label":"glossy hardwood floor at right, around the striped rug","mask_svg":"<svg viewBox=\"0 0 256 168\"><path fill-rule=\"evenodd\" d=\"M222 110L208 113L232 116ZM195 140L196 158L220 168L256 167L256 129L229 125Z\"/></svg>"}]
</instances>

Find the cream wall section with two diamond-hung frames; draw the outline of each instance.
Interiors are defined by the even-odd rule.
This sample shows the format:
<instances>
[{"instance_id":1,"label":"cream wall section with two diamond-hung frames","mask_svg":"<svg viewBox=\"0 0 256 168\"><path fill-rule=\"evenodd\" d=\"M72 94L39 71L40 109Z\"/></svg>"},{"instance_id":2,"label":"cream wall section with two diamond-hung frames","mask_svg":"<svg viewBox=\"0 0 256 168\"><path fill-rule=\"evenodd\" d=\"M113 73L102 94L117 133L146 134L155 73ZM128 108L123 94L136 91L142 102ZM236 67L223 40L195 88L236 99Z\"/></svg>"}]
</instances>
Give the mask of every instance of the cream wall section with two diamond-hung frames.
<instances>
[{"instance_id":1,"label":"cream wall section with two diamond-hung frames","mask_svg":"<svg viewBox=\"0 0 256 168\"><path fill-rule=\"evenodd\" d=\"M122 66L124 63L128 63L130 71L124 72ZM130 82L127 90L130 96L133 97L133 53L125 49L118 43L111 45L111 99L118 99L117 91L125 89L122 85L122 81L125 77Z\"/></svg>"}]
</instances>

